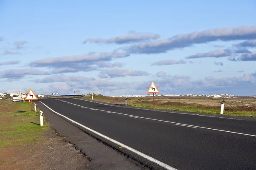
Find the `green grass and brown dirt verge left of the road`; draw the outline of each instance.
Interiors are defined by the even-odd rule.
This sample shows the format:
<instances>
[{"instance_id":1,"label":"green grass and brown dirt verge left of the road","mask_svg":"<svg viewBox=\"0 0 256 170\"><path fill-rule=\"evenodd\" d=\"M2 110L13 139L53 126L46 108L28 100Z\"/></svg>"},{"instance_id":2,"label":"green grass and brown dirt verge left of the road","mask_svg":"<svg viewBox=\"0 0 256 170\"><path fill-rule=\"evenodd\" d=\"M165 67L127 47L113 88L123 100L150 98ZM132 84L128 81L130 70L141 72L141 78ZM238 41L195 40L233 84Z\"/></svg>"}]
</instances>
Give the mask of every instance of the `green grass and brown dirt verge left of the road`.
<instances>
[{"instance_id":1,"label":"green grass and brown dirt verge left of the road","mask_svg":"<svg viewBox=\"0 0 256 170\"><path fill-rule=\"evenodd\" d=\"M56 135L29 102L0 100L0 170L87 169L88 160ZM33 108L34 109L34 108Z\"/></svg>"}]
</instances>

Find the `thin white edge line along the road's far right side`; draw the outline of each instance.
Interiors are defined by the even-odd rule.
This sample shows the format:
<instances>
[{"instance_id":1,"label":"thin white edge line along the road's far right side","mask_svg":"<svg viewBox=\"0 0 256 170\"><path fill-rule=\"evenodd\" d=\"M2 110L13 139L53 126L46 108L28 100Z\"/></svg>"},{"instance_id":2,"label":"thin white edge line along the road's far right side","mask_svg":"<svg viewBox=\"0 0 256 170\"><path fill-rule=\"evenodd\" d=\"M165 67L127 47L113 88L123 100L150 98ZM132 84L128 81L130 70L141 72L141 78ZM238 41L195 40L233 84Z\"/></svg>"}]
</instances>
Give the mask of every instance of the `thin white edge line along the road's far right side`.
<instances>
[{"instance_id":1,"label":"thin white edge line along the road's far right side","mask_svg":"<svg viewBox=\"0 0 256 170\"><path fill-rule=\"evenodd\" d=\"M65 98L68 98L68 97L65 97ZM77 98L69 98L69 99L77 99ZM83 99L78 99L78 100L83 100ZM93 101L90 101L90 100L83 100L83 101L93 102ZM121 106L109 105L109 104L105 104L105 103L99 103L99 102L93 102L93 103L98 103L98 104L101 104L101 105L108 105L108 106L123 108ZM171 111L159 111L159 110L151 110L151 109L146 109L146 108L132 107L132 108L129 108L129 109L140 109L140 110L145 110L145 111L157 111L157 112L165 112L165 113L188 114L188 115L193 115L193 116L205 116L205 117L213 117L213 118L221 118L221 119L235 119L235 120L249 121L249 120L246 120L246 119L236 119L236 118L230 118L230 117L208 116L208 115L201 115L201 114L191 114L191 113L181 113L181 112L171 112Z\"/></svg>"}]
</instances>

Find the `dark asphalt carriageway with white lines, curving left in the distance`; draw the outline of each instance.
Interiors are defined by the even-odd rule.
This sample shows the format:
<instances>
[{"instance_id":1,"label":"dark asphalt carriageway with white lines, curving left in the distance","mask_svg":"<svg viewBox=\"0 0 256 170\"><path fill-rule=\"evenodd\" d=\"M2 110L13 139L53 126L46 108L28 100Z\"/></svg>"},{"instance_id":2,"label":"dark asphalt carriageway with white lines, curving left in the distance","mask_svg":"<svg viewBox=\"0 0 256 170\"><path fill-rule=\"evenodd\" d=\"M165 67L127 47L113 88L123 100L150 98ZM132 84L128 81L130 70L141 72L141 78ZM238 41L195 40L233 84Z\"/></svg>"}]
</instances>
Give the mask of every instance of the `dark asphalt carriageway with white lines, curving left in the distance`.
<instances>
[{"instance_id":1,"label":"dark asphalt carriageway with white lines, curving left in the distance","mask_svg":"<svg viewBox=\"0 0 256 170\"><path fill-rule=\"evenodd\" d=\"M178 170L256 169L254 118L167 113L72 98L40 101L55 112Z\"/></svg>"}]
</instances>

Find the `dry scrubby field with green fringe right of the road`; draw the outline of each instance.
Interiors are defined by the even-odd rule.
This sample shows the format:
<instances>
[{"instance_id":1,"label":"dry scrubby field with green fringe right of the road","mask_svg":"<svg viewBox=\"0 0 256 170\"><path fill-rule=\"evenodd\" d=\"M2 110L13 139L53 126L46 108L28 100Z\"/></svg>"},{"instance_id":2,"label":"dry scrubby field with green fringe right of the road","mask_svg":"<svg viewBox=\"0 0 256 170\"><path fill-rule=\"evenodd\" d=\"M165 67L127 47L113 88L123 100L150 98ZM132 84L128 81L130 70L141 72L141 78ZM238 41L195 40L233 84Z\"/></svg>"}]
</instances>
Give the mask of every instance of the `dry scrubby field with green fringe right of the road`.
<instances>
[{"instance_id":1,"label":"dry scrubby field with green fringe right of the road","mask_svg":"<svg viewBox=\"0 0 256 170\"><path fill-rule=\"evenodd\" d=\"M85 97L91 99L91 97ZM117 105L125 105L125 98L94 95L94 100L109 102ZM233 116L256 117L255 98L226 98L216 99L209 97L155 97L153 105L152 97L128 97L128 105L139 108L155 108L169 111L183 111L194 113L220 114L221 101L225 100L224 114Z\"/></svg>"}]
</instances>

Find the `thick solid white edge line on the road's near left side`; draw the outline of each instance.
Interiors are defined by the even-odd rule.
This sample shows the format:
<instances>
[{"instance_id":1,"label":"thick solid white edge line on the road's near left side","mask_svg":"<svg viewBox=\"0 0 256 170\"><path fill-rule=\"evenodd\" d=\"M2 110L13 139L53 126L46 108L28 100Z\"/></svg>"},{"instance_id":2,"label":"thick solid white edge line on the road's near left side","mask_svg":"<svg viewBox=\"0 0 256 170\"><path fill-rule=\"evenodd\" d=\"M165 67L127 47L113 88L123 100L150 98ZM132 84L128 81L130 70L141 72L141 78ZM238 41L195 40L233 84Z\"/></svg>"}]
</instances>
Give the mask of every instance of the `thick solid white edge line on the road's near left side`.
<instances>
[{"instance_id":1,"label":"thick solid white edge line on the road's near left side","mask_svg":"<svg viewBox=\"0 0 256 170\"><path fill-rule=\"evenodd\" d=\"M38 101L38 102L41 102L41 101ZM103 134L101 134L101 133L99 133L99 132L97 132L97 131L95 131L95 130L93 130L93 129L90 129L89 127L86 127L86 126L84 126L84 125L82 125L82 124L80 124L80 123L78 123L78 122L76 122L76 121L74 121L74 120L68 118L67 116L64 116L64 115L62 115L62 114L60 114L60 113L58 113L58 112L55 112L54 110L52 110L51 108L49 108L47 105L45 105L43 102L41 102L41 103L42 103L45 107L47 107L49 110L51 110L52 112L54 112L54 113L56 113L56 114L58 114L58 115L60 115L60 116L62 116L62 117L64 117L64 118L66 118L66 119L72 121L73 123L76 123L77 125L79 125L79 126L81 126L81 127L84 127L84 128L87 129L87 130L90 130L91 132L93 132L93 133L95 133L95 134L97 134L97 135L99 135L99 136L101 136L101 137L103 137L103 138L105 138L105 139L107 139L107 140L109 140L109 141L115 143L115 144L118 144L119 146L122 146L122 147L126 148L127 150L130 150L131 152L136 153L136 154L139 155L139 156L142 156L143 158L145 158L145 159L147 159L147 160L149 160L149 161L154 162L155 164L157 164L157 165L159 165L159 166L161 166L161 167L166 168L167 170L177 170L177 169L175 169L174 167L169 166L168 164L165 164L165 163L163 163L163 162L161 162L161 161L158 161L157 159L154 159L154 158L152 158L152 157L150 157L150 156L147 156L147 155L145 155L144 153L141 153L140 151L137 151L137 150L135 150L135 149L133 149L133 148L131 148L131 147L126 146L125 144L122 144L122 143L120 143L120 142L118 142L118 141L116 141L116 140L114 140L114 139L109 138L108 136L105 136L105 135L103 135Z\"/></svg>"}]
</instances>

